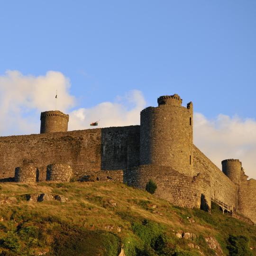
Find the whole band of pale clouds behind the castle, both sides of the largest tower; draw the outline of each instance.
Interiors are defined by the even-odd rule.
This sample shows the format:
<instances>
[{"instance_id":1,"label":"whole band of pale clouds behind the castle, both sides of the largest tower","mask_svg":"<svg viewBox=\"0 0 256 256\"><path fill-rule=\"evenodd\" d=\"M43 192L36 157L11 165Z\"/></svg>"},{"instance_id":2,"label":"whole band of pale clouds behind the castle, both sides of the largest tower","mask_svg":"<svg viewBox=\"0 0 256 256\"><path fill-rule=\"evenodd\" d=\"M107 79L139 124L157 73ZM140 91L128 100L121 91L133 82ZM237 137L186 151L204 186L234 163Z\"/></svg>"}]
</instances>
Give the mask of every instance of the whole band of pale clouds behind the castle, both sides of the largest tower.
<instances>
[{"instance_id":1,"label":"whole band of pale clouds behind the castle, both sides of the largest tower","mask_svg":"<svg viewBox=\"0 0 256 256\"><path fill-rule=\"evenodd\" d=\"M40 112L57 109L70 115L69 130L87 129L100 120L100 127L137 125L146 107L141 91L129 91L113 102L75 109L76 99L69 92L70 80L60 72L44 76L7 71L0 76L0 136L39 133ZM74 110L72 110L72 108ZM221 168L221 160L238 158L246 174L256 179L256 120L220 114L207 119L194 113L194 144Z\"/></svg>"}]
</instances>

